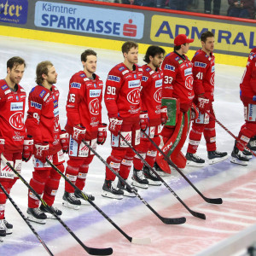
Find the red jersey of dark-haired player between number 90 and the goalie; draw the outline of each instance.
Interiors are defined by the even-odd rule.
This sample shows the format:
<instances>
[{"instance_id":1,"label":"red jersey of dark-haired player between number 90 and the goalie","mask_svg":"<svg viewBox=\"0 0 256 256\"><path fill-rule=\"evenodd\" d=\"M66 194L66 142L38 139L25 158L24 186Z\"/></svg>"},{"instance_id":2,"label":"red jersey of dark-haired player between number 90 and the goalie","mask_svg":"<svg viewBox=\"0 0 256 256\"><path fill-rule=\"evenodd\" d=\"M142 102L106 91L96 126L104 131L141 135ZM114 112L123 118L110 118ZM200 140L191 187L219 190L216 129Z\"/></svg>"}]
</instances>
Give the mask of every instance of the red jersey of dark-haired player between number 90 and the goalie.
<instances>
[{"instance_id":1,"label":"red jersey of dark-haired player between number 90 and the goalie","mask_svg":"<svg viewBox=\"0 0 256 256\"><path fill-rule=\"evenodd\" d=\"M154 71L148 65L144 65L142 68L142 109L148 111L150 125L160 125L163 72L161 69Z\"/></svg>"}]
</instances>

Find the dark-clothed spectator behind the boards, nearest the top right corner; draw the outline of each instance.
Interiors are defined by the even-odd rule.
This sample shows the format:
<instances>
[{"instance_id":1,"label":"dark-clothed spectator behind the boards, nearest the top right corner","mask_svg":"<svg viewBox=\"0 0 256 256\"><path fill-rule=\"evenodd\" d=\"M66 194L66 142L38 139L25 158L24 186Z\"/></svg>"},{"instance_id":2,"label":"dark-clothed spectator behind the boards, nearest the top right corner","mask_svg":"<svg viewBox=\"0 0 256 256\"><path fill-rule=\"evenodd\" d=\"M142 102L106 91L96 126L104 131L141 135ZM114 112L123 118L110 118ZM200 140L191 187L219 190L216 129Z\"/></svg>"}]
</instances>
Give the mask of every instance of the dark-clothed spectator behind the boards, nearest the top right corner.
<instances>
[{"instance_id":1,"label":"dark-clothed spectator behind the boards, nearest the top right corner","mask_svg":"<svg viewBox=\"0 0 256 256\"><path fill-rule=\"evenodd\" d=\"M230 8L228 9L228 16L254 19L255 8L254 0L228 0L230 3Z\"/></svg>"}]
</instances>

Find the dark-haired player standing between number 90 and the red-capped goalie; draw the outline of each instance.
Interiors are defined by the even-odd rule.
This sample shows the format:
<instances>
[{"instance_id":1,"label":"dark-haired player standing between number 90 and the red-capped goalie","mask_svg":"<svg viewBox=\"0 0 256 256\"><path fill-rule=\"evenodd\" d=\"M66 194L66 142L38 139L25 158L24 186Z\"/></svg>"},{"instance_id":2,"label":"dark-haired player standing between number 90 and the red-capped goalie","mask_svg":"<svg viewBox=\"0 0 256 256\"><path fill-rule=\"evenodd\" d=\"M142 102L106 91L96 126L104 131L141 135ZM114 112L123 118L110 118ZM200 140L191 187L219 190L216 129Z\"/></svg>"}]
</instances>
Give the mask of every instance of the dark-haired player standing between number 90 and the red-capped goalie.
<instances>
[{"instance_id":1,"label":"dark-haired player standing between number 90 and the red-capped goalie","mask_svg":"<svg viewBox=\"0 0 256 256\"><path fill-rule=\"evenodd\" d=\"M148 111L148 128L145 131L154 143L160 145L160 131L161 125L164 125L167 120L166 107L161 108L162 98L162 80L163 72L160 69L161 63L164 60L166 51L159 46L151 45L148 47L144 61L147 63L143 65L143 80L141 90L142 110ZM147 137L142 133L141 143L137 146L137 151L143 156L148 164L153 167L156 158L156 148L150 143ZM143 162L137 155L133 160L134 166L134 181L133 185L147 189L148 184L160 185L160 180L154 176L147 166L143 168ZM142 171L143 170L143 171ZM139 173L142 172L142 173ZM146 179L143 177L146 177ZM137 179L140 177L140 179Z\"/></svg>"}]
</instances>

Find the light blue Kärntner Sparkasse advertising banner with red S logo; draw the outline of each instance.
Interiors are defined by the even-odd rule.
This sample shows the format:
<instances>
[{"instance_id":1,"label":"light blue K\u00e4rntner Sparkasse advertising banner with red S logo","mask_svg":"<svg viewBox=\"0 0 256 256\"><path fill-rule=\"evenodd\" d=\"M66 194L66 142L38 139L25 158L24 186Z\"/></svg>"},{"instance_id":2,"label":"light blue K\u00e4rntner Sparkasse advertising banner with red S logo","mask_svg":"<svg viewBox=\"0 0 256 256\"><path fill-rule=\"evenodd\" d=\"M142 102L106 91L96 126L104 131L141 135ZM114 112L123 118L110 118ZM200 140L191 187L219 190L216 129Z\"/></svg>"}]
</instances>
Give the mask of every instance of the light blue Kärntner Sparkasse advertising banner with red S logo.
<instances>
[{"instance_id":1,"label":"light blue K\u00e4rntner Sparkasse advertising banner with red S logo","mask_svg":"<svg viewBox=\"0 0 256 256\"><path fill-rule=\"evenodd\" d=\"M35 26L119 38L143 38L144 15L67 3L38 1Z\"/></svg>"}]
</instances>

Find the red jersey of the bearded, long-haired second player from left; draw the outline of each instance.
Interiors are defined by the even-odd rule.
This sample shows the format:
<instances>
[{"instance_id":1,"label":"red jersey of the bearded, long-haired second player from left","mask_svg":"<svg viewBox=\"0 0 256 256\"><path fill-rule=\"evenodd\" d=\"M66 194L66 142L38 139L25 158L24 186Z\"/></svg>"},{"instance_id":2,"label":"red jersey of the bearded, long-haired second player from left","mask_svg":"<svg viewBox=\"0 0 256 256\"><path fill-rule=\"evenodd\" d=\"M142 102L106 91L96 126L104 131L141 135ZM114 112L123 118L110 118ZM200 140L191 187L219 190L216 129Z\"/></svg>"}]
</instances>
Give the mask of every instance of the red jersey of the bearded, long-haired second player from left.
<instances>
[{"instance_id":1,"label":"red jersey of the bearded, long-haired second player from left","mask_svg":"<svg viewBox=\"0 0 256 256\"><path fill-rule=\"evenodd\" d=\"M59 124L59 90L42 85L32 88L28 96L26 132L32 135L34 143L49 143L49 154L61 150Z\"/></svg>"}]
</instances>

